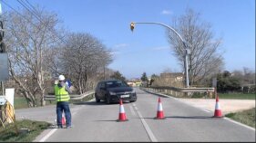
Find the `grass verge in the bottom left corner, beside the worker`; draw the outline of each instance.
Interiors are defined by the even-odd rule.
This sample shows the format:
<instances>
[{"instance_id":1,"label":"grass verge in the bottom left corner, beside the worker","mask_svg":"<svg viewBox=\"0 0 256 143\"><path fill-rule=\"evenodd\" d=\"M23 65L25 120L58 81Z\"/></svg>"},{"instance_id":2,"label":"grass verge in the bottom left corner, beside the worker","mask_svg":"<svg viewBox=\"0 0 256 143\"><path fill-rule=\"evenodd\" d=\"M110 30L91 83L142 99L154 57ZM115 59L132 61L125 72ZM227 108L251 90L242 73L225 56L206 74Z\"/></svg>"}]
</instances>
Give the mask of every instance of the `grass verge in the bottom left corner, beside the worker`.
<instances>
[{"instance_id":1,"label":"grass verge in the bottom left corner, beside the worker","mask_svg":"<svg viewBox=\"0 0 256 143\"><path fill-rule=\"evenodd\" d=\"M18 132L16 134L15 124L17 130L29 129L27 133ZM0 127L0 142L32 142L36 137L51 124L45 121L34 121L29 119L17 120L12 124L6 124Z\"/></svg>"}]
</instances>

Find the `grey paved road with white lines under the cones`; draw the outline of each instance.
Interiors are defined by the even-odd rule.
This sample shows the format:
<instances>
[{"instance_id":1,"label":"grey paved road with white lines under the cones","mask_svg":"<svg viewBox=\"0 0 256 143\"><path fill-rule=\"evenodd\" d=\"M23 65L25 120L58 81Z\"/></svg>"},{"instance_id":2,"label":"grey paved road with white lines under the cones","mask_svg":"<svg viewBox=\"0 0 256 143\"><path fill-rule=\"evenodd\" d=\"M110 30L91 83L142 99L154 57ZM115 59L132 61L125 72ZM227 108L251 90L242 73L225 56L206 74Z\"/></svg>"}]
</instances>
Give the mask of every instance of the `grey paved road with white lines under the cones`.
<instances>
[{"instance_id":1,"label":"grey paved road with white lines under the cones","mask_svg":"<svg viewBox=\"0 0 256 143\"><path fill-rule=\"evenodd\" d=\"M124 103L128 117L117 122L119 104L95 101L72 104L72 129L46 129L36 141L242 141L255 142L255 129L228 119L211 118L213 113L174 98L161 97L166 119L157 115L159 96L136 89L138 100ZM212 105L215 106L215 105ZM16 110L17 119L53 123L55 106Z\"/></svg>"}]
</instances>

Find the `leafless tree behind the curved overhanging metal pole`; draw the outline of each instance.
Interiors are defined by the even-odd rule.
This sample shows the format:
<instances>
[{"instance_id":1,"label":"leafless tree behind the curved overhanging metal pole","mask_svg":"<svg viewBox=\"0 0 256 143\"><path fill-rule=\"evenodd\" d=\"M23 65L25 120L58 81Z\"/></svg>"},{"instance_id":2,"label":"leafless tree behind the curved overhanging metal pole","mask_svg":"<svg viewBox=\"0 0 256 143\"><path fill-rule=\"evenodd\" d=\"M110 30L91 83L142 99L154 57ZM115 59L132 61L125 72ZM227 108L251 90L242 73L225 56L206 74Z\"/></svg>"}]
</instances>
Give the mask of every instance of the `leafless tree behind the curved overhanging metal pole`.
<instances>
[{"instance_id":1,"label":"leafless tree behind the curved overhanging metal pole","mask_svg":"<svg viewBox=\"0 0 256 143\"><path fill-rule=\"evenodd\" d=\"M189 43L189 85L201 84L223 66L219 53L221 39L213 39L210 24L200 21L200 14L191 9L185 15L174 19L173 26L183 39ZM179 37L168 31L169 43L179 64L185 71L185 47Z\"/></svg>"}]
</instances>

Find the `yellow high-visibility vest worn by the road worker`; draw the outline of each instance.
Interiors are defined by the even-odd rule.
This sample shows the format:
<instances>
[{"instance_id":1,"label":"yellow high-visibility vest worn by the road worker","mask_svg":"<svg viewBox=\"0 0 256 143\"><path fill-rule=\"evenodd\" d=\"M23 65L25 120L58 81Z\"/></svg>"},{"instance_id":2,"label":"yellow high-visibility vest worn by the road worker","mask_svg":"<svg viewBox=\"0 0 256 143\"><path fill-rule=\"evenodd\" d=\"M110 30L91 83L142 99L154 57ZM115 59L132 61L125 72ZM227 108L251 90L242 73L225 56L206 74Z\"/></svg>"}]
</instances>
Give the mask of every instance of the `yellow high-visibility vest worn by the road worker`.
<instances>
[{"instance_id":1,"label":"yellow high-visibility vest worn by the road worker","mask_svg":"<svg viewBox=\"0 0 256 143\"><path fill-rule=\"evenodd\" d=\"M70 100L68 92L65 90L65 86L60 88L56 84L56 86L55 86L55 95L56 95L56 101L68 101L68 100Z\"/></svg>"}]
</instances>

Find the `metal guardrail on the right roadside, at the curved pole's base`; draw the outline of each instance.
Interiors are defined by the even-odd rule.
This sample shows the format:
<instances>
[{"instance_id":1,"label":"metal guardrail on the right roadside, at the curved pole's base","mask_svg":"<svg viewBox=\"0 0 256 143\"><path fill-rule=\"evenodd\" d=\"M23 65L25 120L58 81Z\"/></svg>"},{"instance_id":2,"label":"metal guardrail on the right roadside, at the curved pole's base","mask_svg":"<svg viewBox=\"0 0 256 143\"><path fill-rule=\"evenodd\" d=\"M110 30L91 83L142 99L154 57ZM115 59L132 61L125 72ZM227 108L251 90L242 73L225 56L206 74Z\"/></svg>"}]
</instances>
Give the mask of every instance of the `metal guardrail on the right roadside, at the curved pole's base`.
<instances>
[{"instance_id":1,"label":"metal guardrail on the right roadside, at the curved pole's base","mask_svg":"<svg viewBox=\"0 0 256 143\"><path fill-rule=\"evenodd\" d=\"M214 92L214 88L176 88L169 86L160 86L160 87L148 87L148 89L156 89L156 90L171 90L171 91L179 91L179 92Z\"/></svg>"}]
</instances>

